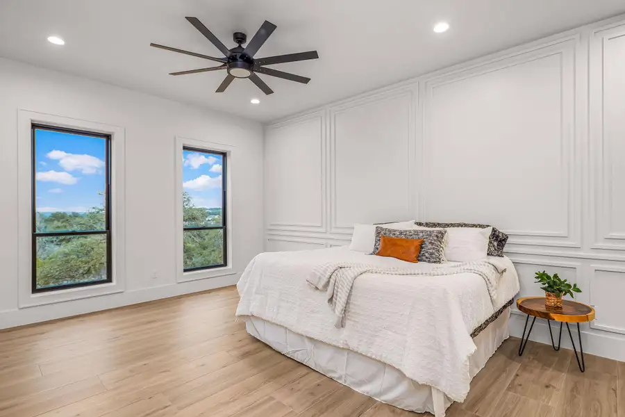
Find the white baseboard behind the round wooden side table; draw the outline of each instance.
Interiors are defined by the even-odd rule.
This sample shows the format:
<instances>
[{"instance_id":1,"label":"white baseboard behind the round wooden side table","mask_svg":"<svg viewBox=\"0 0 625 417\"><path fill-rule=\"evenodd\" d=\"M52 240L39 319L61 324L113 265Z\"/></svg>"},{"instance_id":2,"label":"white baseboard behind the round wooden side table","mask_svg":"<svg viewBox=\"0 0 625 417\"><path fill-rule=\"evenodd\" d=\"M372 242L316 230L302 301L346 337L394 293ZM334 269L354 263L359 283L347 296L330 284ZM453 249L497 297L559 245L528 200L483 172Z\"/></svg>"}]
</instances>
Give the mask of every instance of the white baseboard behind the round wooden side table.
<instances>
[{"instance_id":1,"label":"white baseboard behind the round wooden side table","mask_svg":"<svg viewBox=\"0 0 625 417\"><path fill-rule=\"evenodd\" d=\"M525 326L526 316L520 314L510 315L510 335L521 337L523 334L523 327ZM530 318L528 327L532 323ZM569 324L571 327L571 333L573 340L575 341L575 347L579 352L579 340L577 336L577 325ZM558 332L560 332L560 323L551 322L551 332L553 332L553 340L558 344ZM625 361L625 338L617 335L610 334L609 332L601 332L601 330L590 329L587 325L583 325L581 328L582 343L584 353L594 354L600 357L616 359L617 361ZM547 327L547 320L537 318L534 323L534 328L530 335L530 340L551 345L551 338L549 337L549 328ZM571 338L569 338L569 332L567 327L562 327L562 347L572 349Z\"/></svg>"}]
</instances>

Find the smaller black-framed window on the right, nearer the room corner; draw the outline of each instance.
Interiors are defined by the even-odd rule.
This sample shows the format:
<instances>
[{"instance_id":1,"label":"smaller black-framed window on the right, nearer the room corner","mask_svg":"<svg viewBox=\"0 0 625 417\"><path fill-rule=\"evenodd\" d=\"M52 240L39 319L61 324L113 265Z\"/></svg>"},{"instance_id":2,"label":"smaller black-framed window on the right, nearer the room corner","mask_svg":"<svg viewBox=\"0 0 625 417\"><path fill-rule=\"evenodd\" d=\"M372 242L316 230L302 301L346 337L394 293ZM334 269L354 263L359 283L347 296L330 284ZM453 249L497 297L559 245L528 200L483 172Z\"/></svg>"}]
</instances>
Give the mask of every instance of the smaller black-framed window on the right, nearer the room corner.
<instances>
[{"instance_id":1,"label":"smaller black-framed window on the right, nearer the room corner","mask_svg":"<svg viewBox=\"0 0 625 417\"><path fill-rule=\"evenodd\" d=\"M183 147L183 270L224 267L226 154Z\"/></svg>"}]
</instances>

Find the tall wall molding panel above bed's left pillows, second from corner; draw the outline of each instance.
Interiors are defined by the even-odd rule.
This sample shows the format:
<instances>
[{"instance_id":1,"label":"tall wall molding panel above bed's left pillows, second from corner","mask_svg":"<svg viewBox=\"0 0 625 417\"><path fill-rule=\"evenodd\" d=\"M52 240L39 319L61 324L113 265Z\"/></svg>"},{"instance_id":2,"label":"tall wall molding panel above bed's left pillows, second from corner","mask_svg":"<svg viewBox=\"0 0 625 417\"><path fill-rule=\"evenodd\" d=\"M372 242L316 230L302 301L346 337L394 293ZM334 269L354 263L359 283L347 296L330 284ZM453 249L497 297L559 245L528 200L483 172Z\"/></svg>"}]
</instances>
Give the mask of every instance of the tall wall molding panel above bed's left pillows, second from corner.
<instances>
[{"instance_id":1,"label":"tall wall molding panel above bed's left pillows, second from corner","mask_svg":"<svg viewBox=\"0 0 625 417\"><path fill-rule=\"evenodd\" d=\"M328 111L330 231L414 218L414 99L401 89Z\"/></svg>"}]
</instances>

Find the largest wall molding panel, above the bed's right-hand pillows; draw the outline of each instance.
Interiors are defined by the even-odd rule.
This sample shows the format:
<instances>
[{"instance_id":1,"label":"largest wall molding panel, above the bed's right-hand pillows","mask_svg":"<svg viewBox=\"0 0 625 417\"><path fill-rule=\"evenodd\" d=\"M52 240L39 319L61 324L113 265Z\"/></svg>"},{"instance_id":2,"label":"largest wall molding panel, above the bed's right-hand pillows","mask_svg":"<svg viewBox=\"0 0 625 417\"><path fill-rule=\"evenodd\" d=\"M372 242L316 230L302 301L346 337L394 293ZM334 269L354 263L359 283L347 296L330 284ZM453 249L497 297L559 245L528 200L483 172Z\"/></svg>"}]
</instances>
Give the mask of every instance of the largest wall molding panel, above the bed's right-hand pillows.
<instances>
[{"instance_id":1,"label":"largest wall molding panel, above the bed's right-hand pillows","mask_svg":"<svg viewBox=\"0 0 625 417\"><path fill-rule=\"evenodd\" d=\"M425 82L424 220L497 224L519 245L581 246L577 45L565 38Z\"/></svg>"}]
</instances>

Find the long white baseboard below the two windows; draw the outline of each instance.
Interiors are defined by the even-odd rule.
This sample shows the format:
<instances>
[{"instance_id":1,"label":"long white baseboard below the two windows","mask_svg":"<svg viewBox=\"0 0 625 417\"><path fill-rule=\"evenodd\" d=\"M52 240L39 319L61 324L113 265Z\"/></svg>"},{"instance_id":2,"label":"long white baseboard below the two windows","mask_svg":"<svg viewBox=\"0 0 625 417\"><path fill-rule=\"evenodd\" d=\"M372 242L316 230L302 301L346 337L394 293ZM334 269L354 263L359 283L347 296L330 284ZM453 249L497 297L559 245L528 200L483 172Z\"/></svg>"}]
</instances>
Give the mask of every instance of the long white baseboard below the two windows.
<instances>
[{"instance_id":1,"label":"long white baseboard below the two windows","mask_svg":"<svg viewBox=\"0 0 625 417\"><path fill-rule=\"evenodd\" d=\"M36 322L55 320L57 318L78 316L79 314L93 313L95 311L115 309L117 307L138 304L140 302L198 293L213 288L222 288L235 285L239 277L240 274L226 275L223 277L201 279L180 284L167 284L140 290L129 290L123 293L101 295L99 297L85 298L82 300L0 311L0 329L30 325Z\"/></svg>"}]
</instances>

